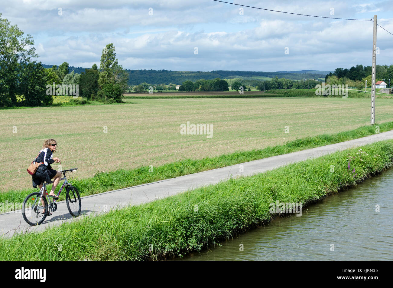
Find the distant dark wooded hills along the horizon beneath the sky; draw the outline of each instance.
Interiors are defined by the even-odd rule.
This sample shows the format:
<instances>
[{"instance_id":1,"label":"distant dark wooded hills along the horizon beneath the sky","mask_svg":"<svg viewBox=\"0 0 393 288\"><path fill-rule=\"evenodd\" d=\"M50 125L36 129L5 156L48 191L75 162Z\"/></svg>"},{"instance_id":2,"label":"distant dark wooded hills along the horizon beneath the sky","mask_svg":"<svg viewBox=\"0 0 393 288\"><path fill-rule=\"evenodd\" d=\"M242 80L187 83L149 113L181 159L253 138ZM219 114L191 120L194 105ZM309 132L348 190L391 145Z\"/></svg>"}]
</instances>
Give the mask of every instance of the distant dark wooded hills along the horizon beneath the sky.
<instances>
[{"instance_id":1,"label":"distant dark wooded hills along the horizon beneath the sky","mask_svg":"<svg viewBox=\"0 0 393 288\"><path fill-rule=\"evenodd\" d=\"M51 68L53 65L42 65L45 68ZM81 74L85 68L70 66L70 72ZM171 70L128 70L130 78L129 85L138 85L146 82L149 84L181 84L186 80L196 81L199 79L231 79L243 78L253 81L263 81L277 76L278 78L286 78L291 80L301 79L325 79L325 75L331 71L315 71L315 70L300 70L300 71L279 71L279 72L263 72L263 71L228 71L228 70L214 70L214 71L171 71Z\"/></svg>"}]
</instances>

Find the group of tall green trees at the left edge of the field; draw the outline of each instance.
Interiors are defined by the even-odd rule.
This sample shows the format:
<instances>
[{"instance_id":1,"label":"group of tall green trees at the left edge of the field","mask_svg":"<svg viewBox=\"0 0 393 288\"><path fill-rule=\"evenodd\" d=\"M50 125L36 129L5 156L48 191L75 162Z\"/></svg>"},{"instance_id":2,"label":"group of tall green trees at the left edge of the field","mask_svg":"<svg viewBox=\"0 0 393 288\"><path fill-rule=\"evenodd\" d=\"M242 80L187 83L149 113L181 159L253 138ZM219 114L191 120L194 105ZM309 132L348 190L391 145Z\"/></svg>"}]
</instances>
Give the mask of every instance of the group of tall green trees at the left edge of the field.
<instances>
[{"instance_id":1,"label":"group of tall green trees at the left edge of the field","mask_svg":"<svg viewBox=\"0 0 393 288\"><path fill-rule=\"evenodd\" d=\"M53 96L64 93L87 100L121 102L122 93L129 87L129 74L118 65L113 43L102 50L99 68L94 64L78 74L69 71L67 62L44 68L41 62L33 61L39 57L34 39L23 35L0 13L0 107L51 105Z\"/></svg>"}]
</instances>

